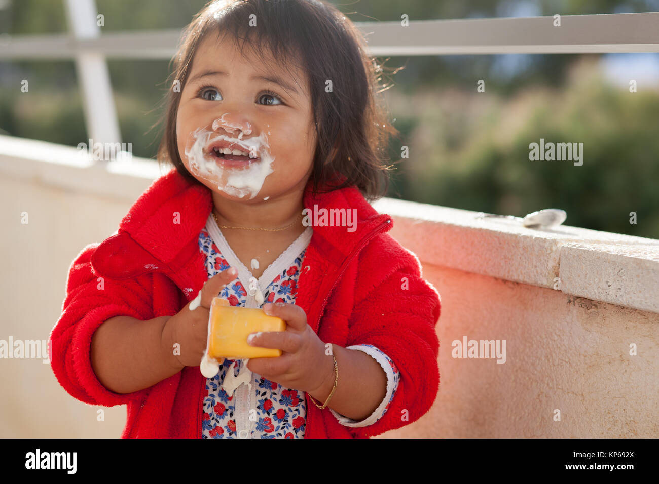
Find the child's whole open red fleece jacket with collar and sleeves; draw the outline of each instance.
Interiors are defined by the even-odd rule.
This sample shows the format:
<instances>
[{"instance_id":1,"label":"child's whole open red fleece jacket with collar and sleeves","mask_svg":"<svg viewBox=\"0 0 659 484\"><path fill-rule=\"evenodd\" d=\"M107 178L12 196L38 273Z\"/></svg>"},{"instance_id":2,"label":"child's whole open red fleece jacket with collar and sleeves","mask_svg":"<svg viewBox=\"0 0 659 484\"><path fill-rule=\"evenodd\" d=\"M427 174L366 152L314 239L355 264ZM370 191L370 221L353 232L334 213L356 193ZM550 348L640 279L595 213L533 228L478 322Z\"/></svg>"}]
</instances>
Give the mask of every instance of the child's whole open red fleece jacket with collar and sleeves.
<instances>
[{"instance_id":1,"label":"child's whole open red fleece jacket with collar and sleeves","mask_svg":"<svg viewBox=\"0 0 659 484\"><path fill-rule=\"evenodd\" d=\"M86 246L69 269L62 315L51 332L53 372L82 402L127 404L122 438L201 438L206 378L199 367L118 394L98 381L90 344L94 331L111 317L146 321L175 315L196 296L208 280L198 236L212 203L206 186L172 170L132 205L116 234ZM403 427L428 412L437 396L439 294L422 279L416 255L386 233L391 217L378 214L357 188L313 196L310 181L303 204L319 210L356 208L357 230L313 227L295 304L324 342L373 344L401 373L386 414L367 427L341 425L329 408L320 410L306 396L304 438L368 438ZM340 373L339 368L339 385Z\"/></svg>"}]
</instances>

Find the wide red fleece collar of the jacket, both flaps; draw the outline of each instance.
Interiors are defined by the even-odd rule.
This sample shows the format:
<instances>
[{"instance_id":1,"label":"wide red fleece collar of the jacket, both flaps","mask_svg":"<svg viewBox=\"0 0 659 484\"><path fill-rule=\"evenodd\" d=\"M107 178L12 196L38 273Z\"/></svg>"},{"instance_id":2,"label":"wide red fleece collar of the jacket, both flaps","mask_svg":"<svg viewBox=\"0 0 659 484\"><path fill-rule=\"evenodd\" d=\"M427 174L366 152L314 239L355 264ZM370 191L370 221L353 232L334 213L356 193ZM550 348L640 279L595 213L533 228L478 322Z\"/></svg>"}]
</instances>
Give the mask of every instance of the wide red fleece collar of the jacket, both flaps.
<instances>
[{"instance_id":1,"label":"wide red fleece collar of the jacket, both flaps","mask_svg":"<svg viewBox=\"0 0 659 484\"><path fill-rule=\"evenodd\" d=\"M341 179L345 178L337 177ZM321 191L326 188L321 187ZM341 265L376 227L387 220L387 230L393 226L391 217L380 215L354 186L314 196L310 178L302 204L311 213L322 209L355 209L353 232L347 227L313 225L310 243L335 266ZM186 180L172 169L154 180L123 217L117 233L101 242L92 255L94 270L112 279L129 279L150 271L180 270L190 255L190 241L196 242L212 207L209 188Z\"/></svg>"}]
</instances>

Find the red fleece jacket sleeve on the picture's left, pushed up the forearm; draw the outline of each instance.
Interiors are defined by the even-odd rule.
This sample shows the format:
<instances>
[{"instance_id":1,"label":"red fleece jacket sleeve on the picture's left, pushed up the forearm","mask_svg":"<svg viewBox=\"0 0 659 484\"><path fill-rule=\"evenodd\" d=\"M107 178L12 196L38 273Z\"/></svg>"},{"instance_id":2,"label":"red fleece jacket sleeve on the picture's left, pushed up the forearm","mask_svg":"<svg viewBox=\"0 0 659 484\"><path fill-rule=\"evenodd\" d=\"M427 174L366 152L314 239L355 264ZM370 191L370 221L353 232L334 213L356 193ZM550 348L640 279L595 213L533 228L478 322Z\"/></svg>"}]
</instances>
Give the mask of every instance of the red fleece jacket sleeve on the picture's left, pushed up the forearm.
<instances>
[{"instance_id":1,"label":"red fleece jacket sleeve on the picture's left, pushed up the forearm","mask_svg":"<svg viewBox=\"0 0 659 484\"><path fill-rule=\"evenodd\" d=\"M149 389L112 392L96 377L90 358L92 335L111 317L153 318L152 275L115 281L94 273L92 254L99 244L86 246L69 268L62 314L51 331L51 366L60 385L87 404L114 406L141 400Z\"/></svg>"}]
</instances>

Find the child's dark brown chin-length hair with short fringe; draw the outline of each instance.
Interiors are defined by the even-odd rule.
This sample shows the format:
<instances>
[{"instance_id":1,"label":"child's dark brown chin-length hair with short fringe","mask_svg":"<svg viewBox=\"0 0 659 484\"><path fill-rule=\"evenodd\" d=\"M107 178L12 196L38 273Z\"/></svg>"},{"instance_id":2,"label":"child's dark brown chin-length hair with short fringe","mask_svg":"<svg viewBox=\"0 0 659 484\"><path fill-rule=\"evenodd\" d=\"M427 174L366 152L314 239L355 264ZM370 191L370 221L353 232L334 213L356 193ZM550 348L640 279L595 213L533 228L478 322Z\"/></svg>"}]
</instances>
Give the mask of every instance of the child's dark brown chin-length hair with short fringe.
<instances>
[{"instance_id":1,"label":"child's dark brown chin-length hair with short fringe","mask_svg":"<svg viewBox=\"0 0 659 484\"><path fill-rule=\"evenodd\" d=\"M256 26L249 25L252 14ZM167 116L159 161L172 163L185 178L198 182L179 156L176 118L196 48L213 32L218 38L231 34L235 41L243 40L241 52L247 42L263 61L269 52L283 67L295 65L306 72L317 136L314 194L319 186L331 186L337 174L345 179L331 190L356 186L370 202L386 194L393 165L382 165L382 160L389 136L399 137L399 131L376 101L384 91L378 76L384 71L366 54L353 22L319 0L214 0L194 16L172 59L171 78L180 84L164 99ZM327 80L332 82L331 93L326 92Z\"/></svg>"}]
</instances>

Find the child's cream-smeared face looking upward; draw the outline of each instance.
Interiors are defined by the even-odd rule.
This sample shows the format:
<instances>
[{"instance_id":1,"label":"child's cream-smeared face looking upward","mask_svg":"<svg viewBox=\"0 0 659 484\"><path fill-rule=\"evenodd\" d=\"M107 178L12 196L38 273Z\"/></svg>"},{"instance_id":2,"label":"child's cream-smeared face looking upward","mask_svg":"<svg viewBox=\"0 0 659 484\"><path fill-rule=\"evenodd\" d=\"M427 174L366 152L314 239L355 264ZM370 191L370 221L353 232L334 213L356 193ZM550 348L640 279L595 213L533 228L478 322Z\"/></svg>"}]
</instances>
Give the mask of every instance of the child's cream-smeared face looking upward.
<instances>
[{"instance_id":1,"label":"child's cream-smeared face looking upward","mask_svg":"<svg viewBox=\"0 0 659 484\"><path fill-rule=\"evenodd\" d=\"M304 73L245 54L228 38L200 43L181 92L177 144L202 184L230 200L262 202L304 188L316 132Z\"/></svg>"}]
</instances>

